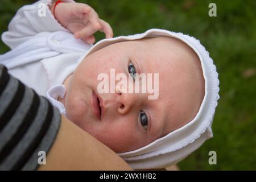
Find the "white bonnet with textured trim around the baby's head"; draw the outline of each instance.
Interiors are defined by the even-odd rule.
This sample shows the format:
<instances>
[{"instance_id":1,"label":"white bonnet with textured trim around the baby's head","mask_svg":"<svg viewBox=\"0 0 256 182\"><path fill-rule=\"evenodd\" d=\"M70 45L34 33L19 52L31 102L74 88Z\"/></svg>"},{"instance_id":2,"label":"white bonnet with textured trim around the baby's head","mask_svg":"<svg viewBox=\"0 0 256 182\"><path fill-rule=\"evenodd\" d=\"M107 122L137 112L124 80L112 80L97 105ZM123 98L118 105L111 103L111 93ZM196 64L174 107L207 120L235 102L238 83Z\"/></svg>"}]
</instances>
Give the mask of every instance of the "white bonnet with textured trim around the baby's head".
<instances>
[{"instance_id":1,"label":"white bonnet with textured trim around the baby's head","mask_svg":"<svg viewBox=\"0 0 256 182\"><path fill-rule=\"evenodd\" d=\"M154 28L143 34L103 39L94 44L87 55L110 44L156 36L177 38L197 53L203 68L205 96L199 112L191 122L138 150L118 154L134 169L156 169L171 166L199 148L205 140L212 138L212 121L218 104L217 100L220 98L218 95L220 90L218 73L213 60L209 57L209 52L205 50L199 40L182 33Z\"/></svg>"}]
</instances>

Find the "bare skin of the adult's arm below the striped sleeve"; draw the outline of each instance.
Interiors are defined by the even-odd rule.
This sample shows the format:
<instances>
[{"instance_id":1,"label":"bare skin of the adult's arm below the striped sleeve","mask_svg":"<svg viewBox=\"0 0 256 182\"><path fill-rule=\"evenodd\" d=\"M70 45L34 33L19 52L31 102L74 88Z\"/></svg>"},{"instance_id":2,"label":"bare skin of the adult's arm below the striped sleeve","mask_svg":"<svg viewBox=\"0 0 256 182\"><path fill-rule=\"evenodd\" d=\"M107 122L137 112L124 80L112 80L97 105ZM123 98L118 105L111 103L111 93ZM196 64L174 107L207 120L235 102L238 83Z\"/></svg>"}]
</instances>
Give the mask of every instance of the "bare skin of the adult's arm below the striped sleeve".
<instances>
[{"instance_id":1,"label":"bare skin of the adult's arm below the striped sleeve","mask_svg":"<svg viewBox=\"0 0 256 182\"><path fill-rule=\"evenodd\" d=\"M39 170L131 170L114 151L64 116L59 133Z\"/></svg>"}]
</instances>

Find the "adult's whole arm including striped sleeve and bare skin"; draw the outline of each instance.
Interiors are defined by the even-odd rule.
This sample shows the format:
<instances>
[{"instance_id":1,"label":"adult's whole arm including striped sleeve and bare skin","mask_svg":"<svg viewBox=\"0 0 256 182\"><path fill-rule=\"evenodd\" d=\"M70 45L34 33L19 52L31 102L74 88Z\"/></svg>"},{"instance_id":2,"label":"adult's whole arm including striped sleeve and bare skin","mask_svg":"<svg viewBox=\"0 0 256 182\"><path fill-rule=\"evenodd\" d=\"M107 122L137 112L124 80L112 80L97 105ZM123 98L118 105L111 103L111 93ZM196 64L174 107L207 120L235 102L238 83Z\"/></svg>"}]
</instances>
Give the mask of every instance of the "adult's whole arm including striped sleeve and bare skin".
<instances>
[{"instance_id":1,"label":"adult's whole arm including striped sleeve and bare skin","mask_svg":"<svg viewBox=\"0 0 256 182\"><path fill-rule=\"evenodd\" d=\"M40 151L47 155L46 165L39 167ZM37 168L130 169L0 65L0 170Z\"/></svg>"}]
</instances>

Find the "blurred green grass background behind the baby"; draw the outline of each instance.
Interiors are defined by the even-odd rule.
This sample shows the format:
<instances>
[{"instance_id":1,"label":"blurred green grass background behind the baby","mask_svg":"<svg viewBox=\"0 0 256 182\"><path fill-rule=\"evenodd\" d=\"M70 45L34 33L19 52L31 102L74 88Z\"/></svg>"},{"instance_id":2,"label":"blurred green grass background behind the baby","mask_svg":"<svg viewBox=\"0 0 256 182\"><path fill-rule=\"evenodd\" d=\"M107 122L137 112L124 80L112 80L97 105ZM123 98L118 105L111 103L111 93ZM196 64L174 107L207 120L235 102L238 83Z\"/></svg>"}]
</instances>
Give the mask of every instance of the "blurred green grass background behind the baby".
<instances>
[{"instance_id":1,"label":"blurred green grass background behind the baby","mask_svg":"<svg viewBox=\"0 0 256 182\"><path fill-rule=\"evenodd\" d=\"M35 1L2 0L0 31L19 7ZM77 1L92 6L109 22L114 36L164 28L195 36L209 51L220 79L214 138L178 164L181 170L256 169L256 1ZM209 3L217 17L209 17ZM101 32L96 39L104 38ZM9 48L1 42L0 53ZM209 151L217 164L208 163Z\"/></svg>"}]
</instances>

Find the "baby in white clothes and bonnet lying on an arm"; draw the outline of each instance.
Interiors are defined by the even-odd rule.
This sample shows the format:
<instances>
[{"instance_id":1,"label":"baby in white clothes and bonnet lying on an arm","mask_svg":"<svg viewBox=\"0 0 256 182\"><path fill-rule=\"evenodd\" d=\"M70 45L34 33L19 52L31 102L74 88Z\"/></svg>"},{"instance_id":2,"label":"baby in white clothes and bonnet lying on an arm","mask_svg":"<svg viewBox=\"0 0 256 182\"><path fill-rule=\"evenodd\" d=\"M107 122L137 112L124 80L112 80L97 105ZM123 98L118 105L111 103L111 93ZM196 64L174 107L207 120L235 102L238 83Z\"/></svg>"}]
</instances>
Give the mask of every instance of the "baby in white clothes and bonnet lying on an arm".
<instances>
[{"instance_id":1,"label":"baby in white clothes and bonnet lying on an arm","mask_svg":"<svg viewBox=\"0 0 256 182\"><path fill-rule=\"evenodd\" d=\"M92 45L96 31L107 39ZM17 12L2 35L12 50L0 63L131 167L179 162L212 137L219 98L212 59L198 40L180 33L151 29L112 36L92 7L42 0ZM114 93L101 92L99 76L110 78L113 70L134 89L142 86L139 75L158 75L151 80L158 97L130 93L116 80Z\"/></svg>"}]
</instances>

